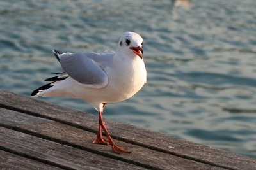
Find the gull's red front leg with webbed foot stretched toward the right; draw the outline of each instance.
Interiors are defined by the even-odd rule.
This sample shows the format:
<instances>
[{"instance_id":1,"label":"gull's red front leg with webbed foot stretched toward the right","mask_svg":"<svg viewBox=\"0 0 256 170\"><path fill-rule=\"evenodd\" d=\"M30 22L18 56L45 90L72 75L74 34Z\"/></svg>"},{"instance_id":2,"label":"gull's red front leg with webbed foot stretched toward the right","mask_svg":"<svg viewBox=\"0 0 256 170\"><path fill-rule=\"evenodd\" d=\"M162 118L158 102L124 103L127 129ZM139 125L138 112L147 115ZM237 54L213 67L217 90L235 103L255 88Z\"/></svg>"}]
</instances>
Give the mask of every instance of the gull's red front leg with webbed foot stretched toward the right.
<instances>
[{"instance_id":1,"label":"gull's red front leg with webbed foot stretched toward the right","mask_svg":"<svg viewBox=\"0 0 256 170\"><path fill-rule=\"evenodd\" d=\"M102 112L99 113L99 120L100 120L100 126L101 126L102 129L104 130L104 132L105 132L105 134L106 134L106 136L107 136L107 138L108 138L108 140L109 140L108 142L109 142L110 145L112 146L113 152L115 152L115 153L120 153L120 152L131 153L131 152L125 150L124 148L120 148L120 147L117 146L116 143L113 141L113 139L111 138L111 136L110 136L110 134L109 134L109 132L108 132L108 130L107 130L107 128L106 128L105 123L104 123L103 120L102 120Z\"/></svg>"}]
</instances>

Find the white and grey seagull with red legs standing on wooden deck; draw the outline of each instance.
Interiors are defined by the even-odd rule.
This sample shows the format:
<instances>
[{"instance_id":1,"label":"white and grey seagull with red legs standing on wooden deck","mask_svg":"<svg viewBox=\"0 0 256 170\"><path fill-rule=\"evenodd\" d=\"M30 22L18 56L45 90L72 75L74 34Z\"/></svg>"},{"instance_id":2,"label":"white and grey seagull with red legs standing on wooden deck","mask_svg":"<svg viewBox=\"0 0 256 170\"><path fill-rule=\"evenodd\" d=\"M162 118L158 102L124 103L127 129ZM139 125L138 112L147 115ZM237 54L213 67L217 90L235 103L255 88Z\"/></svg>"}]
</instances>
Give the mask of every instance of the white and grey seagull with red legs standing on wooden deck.
<instances>
[{"instance_id":1,"label":"white and grey seagull with red legs standing on wooden deck","mask_svg":"<svg viewBox=\"0 0 256 170\"><path fill-rule=\"evenodd\" d=\"M52 50L63 69L60 76L31 93L31 97L66 96L80 98L99 112L99 130L93 143L111 145L115 153L131 153L117 146L102 120L107 103L124 101L134 96L146 83L147 71L143 62L143 39L135 32L124 32L116 52L63 53ZM102 136L102 129L106 138Z\"/></svg>"}]
</instances>

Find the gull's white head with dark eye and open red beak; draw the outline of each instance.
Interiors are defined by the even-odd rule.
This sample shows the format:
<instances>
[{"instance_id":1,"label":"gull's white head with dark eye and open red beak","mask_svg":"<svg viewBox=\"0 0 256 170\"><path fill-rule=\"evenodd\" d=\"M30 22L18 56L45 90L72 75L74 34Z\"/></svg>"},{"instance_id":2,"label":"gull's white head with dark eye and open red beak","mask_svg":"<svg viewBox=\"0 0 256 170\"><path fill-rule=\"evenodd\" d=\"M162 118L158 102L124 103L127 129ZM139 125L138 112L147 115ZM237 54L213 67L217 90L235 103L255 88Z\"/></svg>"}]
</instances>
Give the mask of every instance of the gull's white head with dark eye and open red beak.
<instances>
[{"instance_id":1,"label":"gull's white head with dark eye and open red beak","mask_svg":"<svg viewBox=\"0 0 256 170\"><path fill-rule=\"evenodd\" d=\"M132 57L140 57L142 59L142 45L143 39L139 34L134 32L124 32L118 42L116 51L131 55Z\"/></svg>"}]
</instances>

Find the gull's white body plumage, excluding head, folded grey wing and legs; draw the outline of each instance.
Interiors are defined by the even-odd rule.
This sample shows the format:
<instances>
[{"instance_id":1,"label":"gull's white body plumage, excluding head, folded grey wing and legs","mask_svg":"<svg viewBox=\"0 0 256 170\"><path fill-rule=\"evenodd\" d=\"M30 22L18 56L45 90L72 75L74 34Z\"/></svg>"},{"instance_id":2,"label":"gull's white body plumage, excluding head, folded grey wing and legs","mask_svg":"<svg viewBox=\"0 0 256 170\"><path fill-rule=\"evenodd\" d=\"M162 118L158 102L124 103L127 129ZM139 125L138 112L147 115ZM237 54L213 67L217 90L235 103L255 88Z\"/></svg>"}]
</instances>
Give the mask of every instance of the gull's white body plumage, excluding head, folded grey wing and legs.
<instances>
[{"instance_id":1,"label":"gull's white body plumage, excluding head, folded grey wing and legs","mask_svg":"<svg viewBox=\"0 0 256 170\"><path fill-rule=\"evenodd\" d=\"M85 52L88 54L88 52ZM146 83L146 69L139 57L125 58L116 53L92 53L93 62L99 64L108 76L108 84L102 88L93 85L83 85L71 77L56 83L51 88L42 91L37 96L67 96L76 97L92 104L100 111L102 103L116 103L129 99ZM70 55L70 54L69 54ZM83 53L81 53L83 55ZM86 56L86 55L83 55ZM99 57L97 59L97 57Z\"/></svg>"}]
</instances>

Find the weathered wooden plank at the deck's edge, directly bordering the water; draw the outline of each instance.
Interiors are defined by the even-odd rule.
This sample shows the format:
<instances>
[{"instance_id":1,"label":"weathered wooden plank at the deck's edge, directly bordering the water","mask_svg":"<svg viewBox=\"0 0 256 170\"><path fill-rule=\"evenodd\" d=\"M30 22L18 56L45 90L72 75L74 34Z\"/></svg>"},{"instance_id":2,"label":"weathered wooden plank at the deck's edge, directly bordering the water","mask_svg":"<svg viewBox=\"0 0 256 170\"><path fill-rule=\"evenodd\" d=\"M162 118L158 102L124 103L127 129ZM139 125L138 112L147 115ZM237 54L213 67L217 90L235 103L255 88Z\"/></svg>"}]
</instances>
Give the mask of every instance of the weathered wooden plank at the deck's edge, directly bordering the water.
<instances>
[{"instance_id":1,"label":"weathered wooden plank at the deck's edge, directly bordering the water","mask_svg":"<svg viewBox=\"0 0 256 170\"><path fill-rule=\"evenodd\" d=\"M87 129L88 131L97 131L98 121L97 117L93 115L19 96L11 92L0 90L0 106L34 114L38 117L51 118L58 122L73 125L74 127ZM189 141L183 141L115 121L106 120L106 124L113 138L128 141L136 145L179 155L180 157L191 160L207 162L207 164L226 167L228 169L243 169L244 167L250 167L251 169L256 168L255 159L249 157L228 153L223 150L198 145ZM122 132L122 136L120 136L120 132Z\"/></svg>"}]
</instances>

